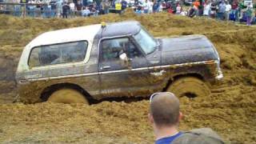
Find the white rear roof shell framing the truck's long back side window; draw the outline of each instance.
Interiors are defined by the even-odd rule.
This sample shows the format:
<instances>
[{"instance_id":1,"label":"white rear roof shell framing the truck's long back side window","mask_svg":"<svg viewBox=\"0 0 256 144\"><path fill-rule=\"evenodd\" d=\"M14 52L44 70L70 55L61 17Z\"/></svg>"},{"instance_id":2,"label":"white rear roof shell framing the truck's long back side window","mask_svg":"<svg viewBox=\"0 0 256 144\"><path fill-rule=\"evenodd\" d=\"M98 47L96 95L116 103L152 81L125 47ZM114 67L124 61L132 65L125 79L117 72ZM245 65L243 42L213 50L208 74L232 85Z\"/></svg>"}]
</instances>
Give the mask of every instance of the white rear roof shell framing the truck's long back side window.
<instances>
[{"instance_id":1,"label":"white rear roof shell framing the truck's long back side window","mask_svg":"<svg viewBox=\"0 0 256 144\"><path fill-rule=\"evenodd\" d=\"M52 45L55 43L63 42L75 42L75 41L88 41L88 47L91 48L92 43L94 42L94 36L101 29L101 25L90 25L90 26L81 26L70 29L63 30L54 30L40 34L37 38L34 38L22 52L22 56L18 62L17 71L26 71L29 70L27 61L30 56L30 50L36 46L43 45Z\"/></svg>"}]
</instances>

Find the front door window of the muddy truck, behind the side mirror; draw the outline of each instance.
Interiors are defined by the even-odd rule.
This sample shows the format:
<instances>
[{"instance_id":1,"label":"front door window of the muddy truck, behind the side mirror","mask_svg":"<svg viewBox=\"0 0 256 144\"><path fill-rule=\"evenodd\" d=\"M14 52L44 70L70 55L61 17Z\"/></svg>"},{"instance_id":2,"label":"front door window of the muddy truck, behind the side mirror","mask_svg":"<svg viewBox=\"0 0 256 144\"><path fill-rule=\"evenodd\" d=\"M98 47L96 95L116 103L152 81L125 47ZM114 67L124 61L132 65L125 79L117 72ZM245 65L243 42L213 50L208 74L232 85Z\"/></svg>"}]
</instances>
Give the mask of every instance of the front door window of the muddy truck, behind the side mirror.
<instances>
[{"instance_id":1,"label":"front door window of the muddy truck, behind the side mirror","mask_svg":"<svg viewBox=\"0 0 256 144\"><path fill-rule=\"evenodd\" d=\"M102 41L102 61L119 60L119 55L126 53L128 58L140 57L142 54L130 42L129 38L114 38Z\"/></svg>"}]
</instances>

